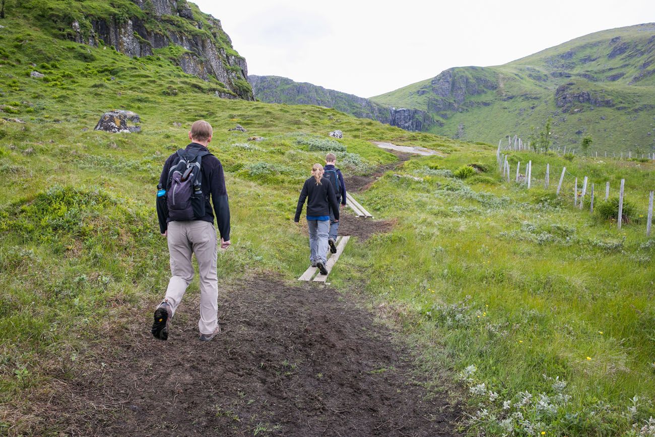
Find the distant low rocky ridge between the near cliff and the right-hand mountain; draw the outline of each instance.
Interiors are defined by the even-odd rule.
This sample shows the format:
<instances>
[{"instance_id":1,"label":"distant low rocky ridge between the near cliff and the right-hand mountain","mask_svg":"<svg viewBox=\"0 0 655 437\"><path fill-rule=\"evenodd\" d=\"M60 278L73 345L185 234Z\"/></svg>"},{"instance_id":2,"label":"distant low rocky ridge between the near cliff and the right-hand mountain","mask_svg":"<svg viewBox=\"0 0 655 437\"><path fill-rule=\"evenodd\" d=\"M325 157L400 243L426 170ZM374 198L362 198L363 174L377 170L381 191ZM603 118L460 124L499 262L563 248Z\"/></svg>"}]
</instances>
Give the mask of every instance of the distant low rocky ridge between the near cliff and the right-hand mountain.
<instances>
[{"instance_id":1,"label":"distant low rocky ridge between the near cliff and the right-hand mountain","mask_svg":"<svg viewBox=\"0 0 655 437\"><path fill-rule=\"evenodd\" d=\"M377 120L405 130L427 130L435 123L425 111L379 105L354 94L294 82L286 77L250 75L248 81L261 102L332 107L355 117Z\"/></svg>"}]
</instances>

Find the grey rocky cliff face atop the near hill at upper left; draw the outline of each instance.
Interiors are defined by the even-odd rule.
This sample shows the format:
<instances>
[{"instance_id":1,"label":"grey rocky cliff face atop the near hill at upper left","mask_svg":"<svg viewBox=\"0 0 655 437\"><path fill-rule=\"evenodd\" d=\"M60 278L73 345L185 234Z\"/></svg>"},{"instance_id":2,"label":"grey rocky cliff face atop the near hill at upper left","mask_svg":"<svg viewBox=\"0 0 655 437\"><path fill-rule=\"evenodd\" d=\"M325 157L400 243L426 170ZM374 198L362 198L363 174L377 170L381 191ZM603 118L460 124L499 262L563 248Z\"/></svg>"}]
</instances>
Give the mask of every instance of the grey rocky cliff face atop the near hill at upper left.
<instances>
[{"instance_id":1,"label":"grey rocky cliff face atop the near hill at upper left","mask_svg":"<svg viewBox=\"0 0 655 437\"><path fill-rule=\"evenodd\" d=\"M128 56L148 56L157 48L183 48L175 59L181 69L204 80L215 77L225 85L221 97L253 100L246 60L236 54L220 20L195 16L185 0L132 0L142 16L88 16L75 20L71 38L97 46L102 40Z\"/></svg>"}]
</instances>

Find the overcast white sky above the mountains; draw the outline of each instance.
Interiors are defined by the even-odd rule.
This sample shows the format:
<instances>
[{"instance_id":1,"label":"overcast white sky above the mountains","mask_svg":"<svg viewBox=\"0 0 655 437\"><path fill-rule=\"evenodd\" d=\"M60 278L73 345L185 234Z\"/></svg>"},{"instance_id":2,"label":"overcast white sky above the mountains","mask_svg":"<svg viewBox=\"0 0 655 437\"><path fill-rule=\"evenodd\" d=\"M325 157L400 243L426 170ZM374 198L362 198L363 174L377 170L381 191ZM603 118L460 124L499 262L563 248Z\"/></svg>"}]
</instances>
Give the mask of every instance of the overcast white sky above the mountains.
<instances>
[{"instance_id":1,"label":"overcast white sky above the mountains","mask_svg":"<svg viewBox=\"0 0 655 437\"><path fill-rule=\"evenodd\" d=\"M250 74L362 97L655 22L655 0L191 1L221 20Z\"/></svg>"}]
</instances>

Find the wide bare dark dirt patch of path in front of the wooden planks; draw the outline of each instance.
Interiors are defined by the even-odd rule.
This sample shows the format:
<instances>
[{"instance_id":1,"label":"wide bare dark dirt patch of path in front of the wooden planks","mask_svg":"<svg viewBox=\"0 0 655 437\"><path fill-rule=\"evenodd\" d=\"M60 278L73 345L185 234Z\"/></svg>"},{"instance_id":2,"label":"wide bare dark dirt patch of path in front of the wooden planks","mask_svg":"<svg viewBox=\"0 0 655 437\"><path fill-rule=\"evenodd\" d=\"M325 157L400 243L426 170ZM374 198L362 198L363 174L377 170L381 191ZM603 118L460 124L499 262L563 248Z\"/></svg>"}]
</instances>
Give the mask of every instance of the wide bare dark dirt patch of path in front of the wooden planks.
<instances>
[{"instance_id":1,"label":"wide bare dark dirt patch of path in front of the wooden planks","mask_svg":"<svg viewBox=\"0 0 655 437\"><path fill-rule=\"evenodd\" d=\"M96 371L50 401L50 423L85 436L456 435L458 409L426 397L407 351L334 290L248 280L227 292L208 343L197 305L185 297L165 342L135 314Z\"/></svg>"}]
</instances>

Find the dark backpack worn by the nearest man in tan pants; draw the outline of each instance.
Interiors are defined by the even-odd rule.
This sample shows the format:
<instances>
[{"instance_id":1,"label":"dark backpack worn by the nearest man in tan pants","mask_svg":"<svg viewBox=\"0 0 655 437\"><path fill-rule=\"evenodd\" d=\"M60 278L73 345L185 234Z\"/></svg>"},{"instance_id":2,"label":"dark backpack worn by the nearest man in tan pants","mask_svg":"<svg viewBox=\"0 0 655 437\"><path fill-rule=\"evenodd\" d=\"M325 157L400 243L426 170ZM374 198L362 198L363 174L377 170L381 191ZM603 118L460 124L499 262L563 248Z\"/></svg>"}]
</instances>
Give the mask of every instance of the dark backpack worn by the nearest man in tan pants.
<instances>
[{"instance_id":1,"label":"dark backpack worn by the nearest man in tan pants","mask_svg":"<svg viewBox=\"0 0 655 437\"><path fill-rule=\"evenodd\" d=\"M202 194L202 157L211 155L206 150L180 149L179 161L168 171L166 180L166 207L168 217L173 221L200 219L205 214L205 199Z\"/></svg>"}]
</instances>

